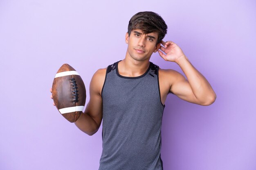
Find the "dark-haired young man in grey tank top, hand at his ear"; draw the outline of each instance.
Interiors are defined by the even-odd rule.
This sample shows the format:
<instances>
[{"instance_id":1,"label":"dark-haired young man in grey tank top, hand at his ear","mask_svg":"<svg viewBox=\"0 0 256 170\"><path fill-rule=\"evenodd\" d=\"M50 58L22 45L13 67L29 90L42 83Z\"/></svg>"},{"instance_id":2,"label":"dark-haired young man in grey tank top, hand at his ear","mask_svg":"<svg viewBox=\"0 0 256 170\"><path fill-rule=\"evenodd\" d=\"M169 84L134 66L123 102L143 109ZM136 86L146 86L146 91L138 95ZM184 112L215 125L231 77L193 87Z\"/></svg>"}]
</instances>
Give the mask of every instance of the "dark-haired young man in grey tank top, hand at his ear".
<instances>
[{"instance_id":1,"label":"dark-haired young man in grey tank top, hand at his ear","mask_svg":"<svg viewBox=\"0 0 256 170\"><path fill-rule=\"evenodd\" d=\"M92 76L90 101L75 124L93 135L103 121L100 170L162 170L161 126L167 95L173 93L204 106L216 99L211 85L181 48L172 41L162 41L166 30L158 14L135 14L125 37L125 59ZM188 81L179 72L150 62L153 52L180 65Z\"/></svg>"}]
</instances>

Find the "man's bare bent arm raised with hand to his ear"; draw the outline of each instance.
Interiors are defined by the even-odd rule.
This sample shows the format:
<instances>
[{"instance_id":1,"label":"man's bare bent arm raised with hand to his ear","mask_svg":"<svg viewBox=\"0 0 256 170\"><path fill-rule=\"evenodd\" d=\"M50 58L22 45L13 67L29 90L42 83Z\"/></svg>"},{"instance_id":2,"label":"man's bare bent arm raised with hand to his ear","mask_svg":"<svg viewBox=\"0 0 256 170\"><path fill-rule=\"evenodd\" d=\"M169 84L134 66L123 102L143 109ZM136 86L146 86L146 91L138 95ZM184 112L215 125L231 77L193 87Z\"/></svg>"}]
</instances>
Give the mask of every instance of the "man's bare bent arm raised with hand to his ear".
<instances>
[{"instance_id":1,"label":"man's bare bent arm raised with hand to his ear","mask_svg":"<svg viewBox=\"0 0 256 170\"><path fill-rule=\"evenodd\" d=\"M182 74L176 72L176 81L171 85L170 92L177 94L180 98L199 105L211 105L216 100L216 94L207 79L190 63L183 51L172 41L162 41L159 55L165 61L177 63L188 81Z\"/></svg>"}]
</instances>

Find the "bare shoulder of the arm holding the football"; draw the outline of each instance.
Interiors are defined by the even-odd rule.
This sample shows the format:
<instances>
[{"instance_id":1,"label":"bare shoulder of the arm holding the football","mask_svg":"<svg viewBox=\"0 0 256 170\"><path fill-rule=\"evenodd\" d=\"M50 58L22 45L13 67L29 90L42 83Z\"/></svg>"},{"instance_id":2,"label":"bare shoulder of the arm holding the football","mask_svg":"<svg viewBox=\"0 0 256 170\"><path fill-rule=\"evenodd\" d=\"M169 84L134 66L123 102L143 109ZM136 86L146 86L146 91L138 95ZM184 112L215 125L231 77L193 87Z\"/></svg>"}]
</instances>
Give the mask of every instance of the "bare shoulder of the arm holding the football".
<instances>
[{"instance_id":1,"label":"bare shoulder of the arm holding the football","mask_svg":"<svg viewBox=\"0 0 256 170\"><path fill-rule=\"evenodd\" d=\"M98 69L92 76L90 87L101 95L101 90L105 81L107 68Z\"/></svg>"}]
</instances>

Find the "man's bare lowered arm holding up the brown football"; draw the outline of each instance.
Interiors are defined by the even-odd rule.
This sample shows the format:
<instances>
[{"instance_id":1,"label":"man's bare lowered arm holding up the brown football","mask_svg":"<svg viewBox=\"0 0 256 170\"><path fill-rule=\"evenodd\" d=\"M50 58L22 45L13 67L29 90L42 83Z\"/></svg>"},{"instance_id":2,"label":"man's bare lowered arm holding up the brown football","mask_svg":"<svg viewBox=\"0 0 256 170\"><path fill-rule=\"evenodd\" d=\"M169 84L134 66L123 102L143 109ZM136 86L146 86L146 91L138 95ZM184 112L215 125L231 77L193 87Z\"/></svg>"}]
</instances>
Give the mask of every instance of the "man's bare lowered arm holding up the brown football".
<instances>
[{"instance_id":1,"label":"man's bare lowered arm holding up the brown football","mask_svg":"<svg viewBox=\"0 0 256 170\"><path fill-rule=\"evenodd\" d=\"M76 120L76 126L88 135L93 135L99 130L102 121L101 90L105 81L106 68L99 69L92 76L90 82L90 100L84 113Z\"/></svg>"}]
</instances>

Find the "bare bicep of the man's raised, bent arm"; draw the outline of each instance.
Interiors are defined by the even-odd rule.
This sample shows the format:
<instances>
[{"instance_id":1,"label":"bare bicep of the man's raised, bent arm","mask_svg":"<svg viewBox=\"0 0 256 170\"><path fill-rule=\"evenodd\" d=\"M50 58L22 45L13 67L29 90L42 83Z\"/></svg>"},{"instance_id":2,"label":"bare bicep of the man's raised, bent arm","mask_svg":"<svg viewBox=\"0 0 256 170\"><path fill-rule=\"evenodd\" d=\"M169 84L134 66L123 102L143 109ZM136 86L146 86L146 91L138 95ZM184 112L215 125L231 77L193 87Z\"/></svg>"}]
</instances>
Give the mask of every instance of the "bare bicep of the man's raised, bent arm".
<instances>
[{"instance_id":1,"label":"bare bicep of the man's raised, bent arm","mask_svg":"<svg viewBox=\"0 0 256 170\"><path fill-rule=\"evenodd\" d=\"M171 85L170 92L175 94L182 100L199 104L200 101L195 97L195 94L193 93L192 88L186 78L177 71L173 71L172 76L174 76L175 78Z\"/></svg>"}]
</instances>

